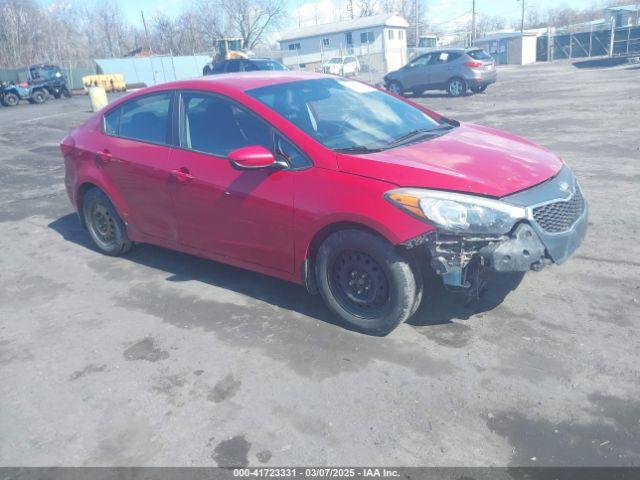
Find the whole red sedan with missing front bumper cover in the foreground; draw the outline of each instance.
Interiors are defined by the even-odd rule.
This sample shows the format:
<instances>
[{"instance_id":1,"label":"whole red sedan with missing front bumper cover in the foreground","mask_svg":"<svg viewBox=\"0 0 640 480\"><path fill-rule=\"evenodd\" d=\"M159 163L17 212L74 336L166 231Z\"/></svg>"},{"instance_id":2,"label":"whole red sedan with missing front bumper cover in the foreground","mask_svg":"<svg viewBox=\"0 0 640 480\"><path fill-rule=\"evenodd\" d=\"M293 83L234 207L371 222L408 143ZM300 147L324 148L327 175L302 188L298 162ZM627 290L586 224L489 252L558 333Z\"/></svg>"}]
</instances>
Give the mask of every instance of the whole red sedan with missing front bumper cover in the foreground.
<instances>
[{"instance_id":1,"label":"whole red sedan with missing front bumper cover in the foreground","mask_svg":"<svg viewBox=\"0 0 640 480\"><path fill-rule=\"evenodd\" d=\"M254 72L121 98L61 143L66 187L108 255L146 242L319 292L385 334L425 268L478 291L582 241L587 205L553 153L366 84Z\"/></svg>"}]
</instances>

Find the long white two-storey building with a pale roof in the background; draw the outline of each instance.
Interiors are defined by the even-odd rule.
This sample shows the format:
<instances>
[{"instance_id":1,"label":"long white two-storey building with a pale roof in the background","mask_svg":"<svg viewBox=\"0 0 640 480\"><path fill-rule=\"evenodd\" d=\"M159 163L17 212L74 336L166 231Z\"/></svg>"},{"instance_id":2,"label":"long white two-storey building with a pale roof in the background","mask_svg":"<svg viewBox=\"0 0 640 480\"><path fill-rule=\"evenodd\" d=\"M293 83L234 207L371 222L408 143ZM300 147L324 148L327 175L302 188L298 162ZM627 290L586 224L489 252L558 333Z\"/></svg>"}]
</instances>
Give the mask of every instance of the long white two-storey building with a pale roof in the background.
<instances>
[{"instance_id":1,"label":"long white two-storey building with a pale roof in the background","mask_svg":"<svg viewBox=\"0 0 640 480\"><path fill-rule=\"evenodd\" d=\"M394 14L298 28L278 42L288 67L316 70L332 57L355 55L361 70L397 70L407 63L409 23Z\"/></svg>"}]
</instances>

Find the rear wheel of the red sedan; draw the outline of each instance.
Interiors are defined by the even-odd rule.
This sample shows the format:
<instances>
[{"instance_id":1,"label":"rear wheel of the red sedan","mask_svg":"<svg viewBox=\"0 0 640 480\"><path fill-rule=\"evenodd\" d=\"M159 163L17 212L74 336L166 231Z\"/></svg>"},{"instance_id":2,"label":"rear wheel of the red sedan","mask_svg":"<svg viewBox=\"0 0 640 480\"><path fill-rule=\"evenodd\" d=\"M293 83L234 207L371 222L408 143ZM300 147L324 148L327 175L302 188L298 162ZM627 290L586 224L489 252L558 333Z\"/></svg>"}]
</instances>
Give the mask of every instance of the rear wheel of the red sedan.
<instances>
[{"instance_id":1,"label":"rear wheel of the red sedan","mask_svg":"<svg viewBox=\"0 0 640 480\"><path fill-rule=\"evenodd\" d=\"M105 255L117 257L131 249L124 222L102 190L93 188L85 193L82 218L93 243Z\"/></svg>"}]
</instances>

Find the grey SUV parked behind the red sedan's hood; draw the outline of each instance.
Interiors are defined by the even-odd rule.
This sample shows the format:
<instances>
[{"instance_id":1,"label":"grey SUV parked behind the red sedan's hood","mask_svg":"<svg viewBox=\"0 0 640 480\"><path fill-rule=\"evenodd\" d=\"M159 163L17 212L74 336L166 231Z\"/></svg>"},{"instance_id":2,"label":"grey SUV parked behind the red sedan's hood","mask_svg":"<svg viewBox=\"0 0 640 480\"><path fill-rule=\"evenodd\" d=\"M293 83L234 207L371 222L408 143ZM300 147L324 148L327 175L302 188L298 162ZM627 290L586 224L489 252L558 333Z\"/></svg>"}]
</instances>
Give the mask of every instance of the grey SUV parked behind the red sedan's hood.
<instances>
[{"instance_id":1,"label":"grey SUV parked behind the red sedan's hood","mask_svg":"<svg viewBox=\"0 0 640 480\"><path fill-rule=\"evenodd\" d=\"M468 89L484 92L496 81L493 58L479 48L448 48L433 50L414 58L400 70L384 77L387 90L396 95L413 92L422 95L425 90L446 90L459 97Z\"/></svg>"}]
</instances>

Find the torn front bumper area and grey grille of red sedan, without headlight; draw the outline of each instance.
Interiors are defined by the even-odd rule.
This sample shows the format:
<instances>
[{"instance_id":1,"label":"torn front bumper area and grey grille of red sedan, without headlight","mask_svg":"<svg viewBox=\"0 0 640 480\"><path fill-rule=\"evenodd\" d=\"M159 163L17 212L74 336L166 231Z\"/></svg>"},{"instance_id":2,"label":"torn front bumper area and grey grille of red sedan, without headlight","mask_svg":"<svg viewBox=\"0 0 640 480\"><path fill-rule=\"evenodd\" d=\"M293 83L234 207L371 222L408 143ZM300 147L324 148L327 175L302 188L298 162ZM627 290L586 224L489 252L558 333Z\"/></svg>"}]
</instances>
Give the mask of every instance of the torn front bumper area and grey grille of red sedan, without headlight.
<instances>
[{"instance_id":1,"label":"torn front bumper area and grey grille of red sedan, without headlight","mask_svg":"<svg viewBox=\"0 0 640 480\"><path fill-rule=\"evenodd\" d=\"M446 286L479 292L486 271L539 271L564 262L582 243L588 206L568 168L547 182L503 198L523 206L527 218L506 235L451 234L438 230L405 243L425 249Z\"/></svg>"}]
</instances>

